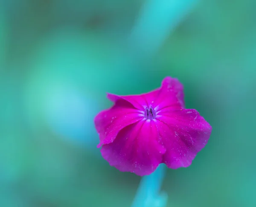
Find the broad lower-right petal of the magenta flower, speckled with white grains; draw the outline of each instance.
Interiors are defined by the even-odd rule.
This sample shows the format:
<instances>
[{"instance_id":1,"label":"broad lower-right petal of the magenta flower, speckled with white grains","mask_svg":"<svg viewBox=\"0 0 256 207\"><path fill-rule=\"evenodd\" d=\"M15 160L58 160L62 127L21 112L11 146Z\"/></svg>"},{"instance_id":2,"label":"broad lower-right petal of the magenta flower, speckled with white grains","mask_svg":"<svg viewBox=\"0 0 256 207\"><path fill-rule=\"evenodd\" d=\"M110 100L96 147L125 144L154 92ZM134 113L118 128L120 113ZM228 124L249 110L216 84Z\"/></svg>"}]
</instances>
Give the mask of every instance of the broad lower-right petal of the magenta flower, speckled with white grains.
<instances>
[{"instance_id":1,"label":"broad lower-right petal of the magenta flower, speckled with white grains","mask_svg":"<svg viewBox=\"0 0 256 207\"><path fill-rule=\"evenodd\" d=\"M157 126L166 147L163 163L173 169L188 167L207 144L212 131L209 123L195 109L163 113L157 118Z\"/></svg>"}]
</instances>

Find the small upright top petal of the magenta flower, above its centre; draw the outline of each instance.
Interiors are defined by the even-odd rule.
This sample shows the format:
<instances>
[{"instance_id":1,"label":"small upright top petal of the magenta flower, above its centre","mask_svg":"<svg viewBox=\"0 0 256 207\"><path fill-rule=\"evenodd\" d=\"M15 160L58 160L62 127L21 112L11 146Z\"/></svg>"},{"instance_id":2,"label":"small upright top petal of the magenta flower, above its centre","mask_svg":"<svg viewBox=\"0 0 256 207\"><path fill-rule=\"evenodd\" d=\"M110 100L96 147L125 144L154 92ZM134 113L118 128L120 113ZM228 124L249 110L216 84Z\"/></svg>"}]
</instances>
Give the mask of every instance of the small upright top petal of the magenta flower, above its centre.
<instances>
[{"instance_id":1,"label":"small upright top petal of the magenta flower, above its centre","mask_svg":"<svg viewBox=\"0 0 256 207\"><path fill-rule=\"evenodd\" d=\"M166 77L154 100L156 110L185 108L183 85L176 78Z\"/></svg>"}]
</instances>

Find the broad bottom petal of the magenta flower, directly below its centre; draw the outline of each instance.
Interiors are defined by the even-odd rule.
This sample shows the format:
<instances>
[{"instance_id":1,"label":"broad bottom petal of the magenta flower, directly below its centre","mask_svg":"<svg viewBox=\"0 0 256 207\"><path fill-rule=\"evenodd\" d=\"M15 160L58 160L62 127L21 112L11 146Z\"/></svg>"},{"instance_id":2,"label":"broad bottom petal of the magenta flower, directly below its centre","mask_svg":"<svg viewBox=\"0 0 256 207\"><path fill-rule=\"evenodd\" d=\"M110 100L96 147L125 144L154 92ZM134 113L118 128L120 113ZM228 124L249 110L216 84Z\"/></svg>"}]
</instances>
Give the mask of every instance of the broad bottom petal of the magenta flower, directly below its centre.
<instances>
[{"instance_id":1,"label":"broad bottom petal of the magenta flower, directly below its centre","mask_svg":"<svg viewBox=\"0 0 256 207\"><path fill-rule=\"evenodd\" d=\"M123 128L112 143L103 145L102 156L120 171L149 175L166 152L158 139L156 122L140 121Z\"/></svg>"}]
</instances>

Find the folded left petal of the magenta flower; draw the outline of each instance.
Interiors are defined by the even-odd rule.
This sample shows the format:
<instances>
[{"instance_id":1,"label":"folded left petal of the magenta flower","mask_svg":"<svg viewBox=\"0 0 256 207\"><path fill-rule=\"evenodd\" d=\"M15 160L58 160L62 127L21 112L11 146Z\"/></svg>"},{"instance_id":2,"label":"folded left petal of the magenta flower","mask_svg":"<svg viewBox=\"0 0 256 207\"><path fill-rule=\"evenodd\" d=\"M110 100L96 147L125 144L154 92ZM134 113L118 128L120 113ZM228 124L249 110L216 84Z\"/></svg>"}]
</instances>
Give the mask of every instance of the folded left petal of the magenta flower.
<instances>
[{"instance_id":1,"label":"folded left petal of the magenta flower","mask_svg":"<svg viewBox=\"0 0 256 207\"><path fill-rule=\"evenodd\" d=\"M100 140L97 147L113 142L119 130L141 119L143 117L131 103L117 99L112 108L100 112L94 119Z\"/></svg>"}]
</instances>

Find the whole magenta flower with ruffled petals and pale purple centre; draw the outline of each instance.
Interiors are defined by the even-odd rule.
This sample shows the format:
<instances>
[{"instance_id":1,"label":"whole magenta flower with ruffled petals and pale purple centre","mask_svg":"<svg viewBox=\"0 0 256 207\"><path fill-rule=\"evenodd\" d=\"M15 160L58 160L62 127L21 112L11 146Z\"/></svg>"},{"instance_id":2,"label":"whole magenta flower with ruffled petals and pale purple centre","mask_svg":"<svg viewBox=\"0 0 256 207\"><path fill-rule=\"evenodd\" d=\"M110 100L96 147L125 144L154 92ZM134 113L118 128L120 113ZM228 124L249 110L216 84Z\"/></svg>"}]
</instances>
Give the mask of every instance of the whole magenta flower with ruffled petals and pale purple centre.
<instances>
[{"instance_id":1,"label":"whole magenta flower with ruffled petals and pale purple centre","mask_svg":"<svg viewBox=\"0 0 256 207\"><path fill-rule=\"evenodd\" d=\"M185 109L183 85L166 77L147 94L108 94L113 107L95 117L101 153L111 166L139 176L160 163L188 167L207 144L212 127L195 109Z\"/></svg>"}]
</instances>

